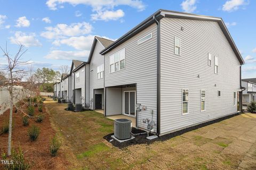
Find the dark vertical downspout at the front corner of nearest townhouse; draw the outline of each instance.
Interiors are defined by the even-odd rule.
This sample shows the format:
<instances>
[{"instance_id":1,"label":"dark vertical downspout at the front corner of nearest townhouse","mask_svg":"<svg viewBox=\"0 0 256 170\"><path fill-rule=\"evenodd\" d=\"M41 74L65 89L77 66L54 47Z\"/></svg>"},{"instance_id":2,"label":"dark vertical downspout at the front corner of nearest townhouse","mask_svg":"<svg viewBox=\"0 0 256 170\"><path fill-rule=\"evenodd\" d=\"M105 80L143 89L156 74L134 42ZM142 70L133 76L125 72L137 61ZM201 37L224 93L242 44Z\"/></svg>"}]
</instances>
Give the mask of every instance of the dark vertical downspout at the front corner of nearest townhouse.
<instances>
[{"instance_id":1,"label":"dark vertical downspout at the front corner of nearest townhouse","mask_svg":"<svg viewBox=\"0 0 256 170\"><path fill-rule=\"evenodd\" d=\"M157 25L157 107L156 107L156 122L157 122L157 135L160 134L160 23L156 19L155 15L153 16L153 19L156 22Z\"/></svg>"}]
</instances>

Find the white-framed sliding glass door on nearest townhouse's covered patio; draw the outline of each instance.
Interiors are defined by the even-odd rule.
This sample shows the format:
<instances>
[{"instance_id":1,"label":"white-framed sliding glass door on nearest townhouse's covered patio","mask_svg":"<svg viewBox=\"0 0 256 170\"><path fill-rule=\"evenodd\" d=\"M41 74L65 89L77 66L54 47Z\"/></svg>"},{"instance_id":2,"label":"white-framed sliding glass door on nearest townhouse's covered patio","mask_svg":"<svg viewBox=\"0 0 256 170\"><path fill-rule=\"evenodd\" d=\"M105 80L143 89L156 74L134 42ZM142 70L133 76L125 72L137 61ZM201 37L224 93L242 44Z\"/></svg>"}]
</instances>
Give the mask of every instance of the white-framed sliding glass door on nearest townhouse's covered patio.
<instances>
[{"instance_id":1,"label":"white-framed sliding glass door on nearest townhouse's covered patio","mask_svg":"<svg viewBox=\"0 0 256 170\"><path fill-rule=\"evenodd\" d=\"M136 116L136 91L124 91L124 114Z\"/></svg>"}]
</instances>

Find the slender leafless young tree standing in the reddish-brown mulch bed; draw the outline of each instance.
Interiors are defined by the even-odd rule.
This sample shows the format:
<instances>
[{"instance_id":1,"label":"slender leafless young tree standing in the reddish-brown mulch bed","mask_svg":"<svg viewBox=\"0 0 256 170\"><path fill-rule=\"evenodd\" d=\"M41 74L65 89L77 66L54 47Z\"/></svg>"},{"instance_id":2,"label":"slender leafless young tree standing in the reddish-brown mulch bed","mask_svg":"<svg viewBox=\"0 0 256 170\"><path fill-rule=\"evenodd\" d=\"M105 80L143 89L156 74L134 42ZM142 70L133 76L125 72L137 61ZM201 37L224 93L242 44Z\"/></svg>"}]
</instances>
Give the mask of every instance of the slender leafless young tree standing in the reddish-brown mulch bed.
<instances>
[{"instance_id":1,"label":"slender leafless young tree standing in the reddish-brown mulch bed","mask_svg":"<svg viewBox=\"0 0 256 170\"><path fill-rule=\"evenodd\" d=\"M6 87L6 90L10 94L9 136L8 136L8 149L7 149L7 155L10 156L11 145L12 145L12 114L13 114L14 99L18 98L18 96L15 96L15 95L20 95L19 92L15 93L15 90L25 76L25 71L22 69L22 65L26 65L28 64L28 62L21 61L21 57L23 56L23 54L26 53L27 49L24 50L23 49L24 46L19 45L18 52L14 56L12 56L9 53L9 50L7 49L7 43L6 43L5 49L3 49L2 47L0 48L4 53L3 56L6 57L6 60L7 60L7 66L3 70L7 72L7 77L5 79L4 86Z\"/></svg>"}]
</instances>

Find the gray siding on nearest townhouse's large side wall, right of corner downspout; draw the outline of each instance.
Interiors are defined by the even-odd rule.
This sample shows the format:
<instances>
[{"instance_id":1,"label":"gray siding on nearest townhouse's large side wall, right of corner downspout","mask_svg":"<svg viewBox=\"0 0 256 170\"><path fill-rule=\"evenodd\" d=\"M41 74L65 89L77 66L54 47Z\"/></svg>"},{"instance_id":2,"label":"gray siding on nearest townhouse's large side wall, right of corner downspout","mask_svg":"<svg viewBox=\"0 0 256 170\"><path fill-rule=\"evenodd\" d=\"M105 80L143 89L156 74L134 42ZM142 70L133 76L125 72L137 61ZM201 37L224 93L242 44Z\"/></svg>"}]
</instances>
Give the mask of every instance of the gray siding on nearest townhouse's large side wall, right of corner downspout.
<instances>
[{"instance_id":1,"label":"gray siding on nearest townhouse's large side wall, right of corner downspout","mask_svg":"<svg viewBox=\"0 0 256 170\"><path fill-rule=\"evenodd\" d=\"M181 39L181 56L174 54L175 36ZM212 56L212 65L208 65L208 53L218 57L218 74L214 74L215 57ZM163 18L161 134L236 113L233 94L239 91L239 67L240 63L217 22ZM189 89L187 115L182 115L183 88ZM200 105L201 90L206 90L204 112ZM218 90L221 97L218 97Z\"/></svg>"}]
</instances>

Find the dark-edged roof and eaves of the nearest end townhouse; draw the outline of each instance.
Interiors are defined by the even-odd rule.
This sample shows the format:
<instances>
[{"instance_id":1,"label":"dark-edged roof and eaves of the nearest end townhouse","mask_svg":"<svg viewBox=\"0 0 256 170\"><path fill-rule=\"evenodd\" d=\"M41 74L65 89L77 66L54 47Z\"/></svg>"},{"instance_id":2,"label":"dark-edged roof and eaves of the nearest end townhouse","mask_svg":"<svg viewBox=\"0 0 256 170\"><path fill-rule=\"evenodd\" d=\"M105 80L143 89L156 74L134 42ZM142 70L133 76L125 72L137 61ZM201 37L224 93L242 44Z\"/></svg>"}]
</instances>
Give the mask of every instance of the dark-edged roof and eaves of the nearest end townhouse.
<instances>
[{"instance_id":1,"label":"dark-edged roof and eaves of the nearest end townhouse","mask_svg":"<svg viewBox=\"0 0 256 170\"><path fill-rule=\"evenodd\" d=\"M114 49L118 45L121 45L126 40L130 39L137 33L141 32L142 30L149 27L149 25L155 23L156 22L155 20L161 20L164 17L218 22L222 32L226 36L231 48L233 49L238 61L240 62L240 64L244 64L244 60L243 60L241 54L239 53L239 51L234 43L234 40L230 36L230 33L228 32L228 29L227 29L225 23L223 22L223 20L221 18L217 18L217 17L213 17L213 16L205 16L205 15L196 15L196 14L190 14L190 13L185 13L185 12L162 10L162 9L156 11L154 14L150 15L146 20L142 21L136 27L131 29L129 32L125 33L125 35L123 35L122 37L117 39L113 44L111 44L107 48L103 49L100 52L100 54L104 55L104 54L110 52L112 49Z\"/></svg>"}]
</instances>

